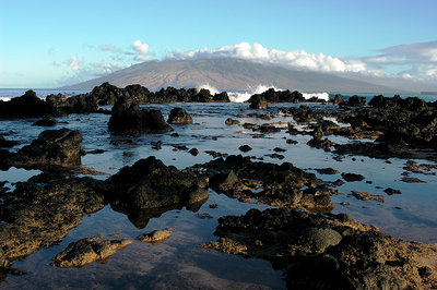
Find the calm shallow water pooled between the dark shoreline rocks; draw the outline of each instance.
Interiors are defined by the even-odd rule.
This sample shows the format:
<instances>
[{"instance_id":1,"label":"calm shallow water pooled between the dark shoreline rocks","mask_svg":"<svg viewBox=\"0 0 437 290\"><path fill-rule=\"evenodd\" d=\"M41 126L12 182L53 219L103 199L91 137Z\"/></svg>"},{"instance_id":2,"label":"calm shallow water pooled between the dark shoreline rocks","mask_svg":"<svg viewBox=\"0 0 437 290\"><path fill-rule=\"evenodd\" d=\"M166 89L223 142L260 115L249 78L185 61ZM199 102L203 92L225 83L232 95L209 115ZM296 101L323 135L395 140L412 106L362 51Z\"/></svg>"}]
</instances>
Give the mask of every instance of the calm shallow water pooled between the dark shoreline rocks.
<instances>
[{"instance_id":1,"label":"calm shallow water pooled between the dark shoreline rocks","mask_svg":"<svg viewBox=\"0 0 437 290\"><path fill-rule=\"evenodd\" d=\"M383 159L374 159L361 156L344 156L342 161L333 159L334 155L306 145L309 135L293 136L285 132L260 136L259 132L244 129L240 125L225 125L227 118L238 119L241 123L271 123L283 122L276 126L286 128L290 117L277 114L279 107L299 106L292 104L271 105L269 109L275 118L270 121L253 118L236 118L237 114L256 112L245 110L247 104L167 104L152 105L163 111L165 119L174 107L184 107L192 114L193 124L173 125L179 137L172 133L150 134L129 137L132 144L113 145L111 142L126 137L110 135L107 131L109 116L105 114L72 114L59 118L54 129L69 128L81 131L82 147L90 152L104 149L103 154L87 154L82 157L82 166L97 171L113 174L123 166L131 166L141 158L151 155L163 160L164 164L176 166L179 169L203 164L213 159L205 150L215 150L226 154L241 154L263 158L263 161L282 164L292 162L296 167L314 172L324 181L341 179L341 174L319 174L314 169L332 167L340 172L361 173L365 180L361 182L345 182L338 188L342 194L332 196L335 204L333 213L351 214L357 220L371 223L395 238L409 241L437 242L437 203L436 176L412 173L427 183L404 183L400 181L404 171L404 159L391 158L391 164ZM331 105L308 105L326 109L334 109ZM245 110L245 111L241 111ZM8 140L17 140L22 144L31 143L33 138L46 128L32 126L35 120L1 121L0 133L9 133ZM12 132L11 132L12 131ZM216 137L216 141L213 138ZM298 143L286 144L286 138ZM350 142L344 137L329 136L336 143ZM162 149L152 148L151 142L162 142ZM244 154L238 147L248 144L252 150ZM175 150L175 146L185 145L189 149L198 148L199 155L192 156L187 150ZM282 160L268 157L273 148L286 149L280 153ZM430 164L426 160L416 160L418 164ZM15 169L12 169L15 170ZM19 169L16 169L19 170ZM21 169L20 169L21 170ZM435 170L434 170L435 171ZM11 176L12 172L12 176ZM20 171L22 172L22 171ZM0 181L24 181L31 176L16 178L13 171L0 171ZM23 171L24 172L24 171ZM23 173L22 172L22 173ZM32 172L34 174L37 172ZM20 173L21 174L21 173ZM106 179L108 176L95 176ZM371 181L371 184L366 183ZM380 186L380 189L377 189ZM387 188L401 190L402 194L388 196L383 193ZM375 201L358 201L347 197L352 190L365 191L371 194L381 194L387 197L386 203ZM343 206L349 202L352 205ZM209 205L218 204L218 208ZM238 256L226 255L211 250L197 247L198 245L215 240L213 235L217 219L225 215L243 215L249 208L267 208L264 205L239 203L225 195L210 191L210 197L198 213L209 213L213 218L200 219L196 213L186 208L164 213L158 218L150 219L143 229L135 228L123 214L114 212L110 206L83 218L82 223L71 230L60 244L42 250L29 255L24 261L16 261L13 267L27 274L12 276L1 285L2 288L285 288L281 279L281 271L272 269L270 263L260 259L245 259ZM398 208L402 209L398 209ZM163 228L175 229L173 235L163 244L151 245L135 241L130 246L120 250L106 264L93 263L83 268L60 269L47 266L50 259L62 251L70 242L82 238L104 234L109 238L119 233L121 238L134 239L137 235Z\"/></svg>"}]
</instances>

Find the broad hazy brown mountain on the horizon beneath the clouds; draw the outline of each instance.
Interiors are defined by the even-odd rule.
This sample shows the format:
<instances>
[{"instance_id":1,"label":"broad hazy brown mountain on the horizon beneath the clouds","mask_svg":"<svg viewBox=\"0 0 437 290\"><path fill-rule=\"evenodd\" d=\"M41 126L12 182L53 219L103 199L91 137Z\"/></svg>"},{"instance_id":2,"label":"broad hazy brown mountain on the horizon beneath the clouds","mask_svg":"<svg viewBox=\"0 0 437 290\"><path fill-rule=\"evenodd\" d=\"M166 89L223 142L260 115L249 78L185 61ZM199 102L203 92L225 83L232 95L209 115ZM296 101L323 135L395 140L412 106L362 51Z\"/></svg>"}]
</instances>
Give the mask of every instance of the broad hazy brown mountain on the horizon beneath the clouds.
<instances>
[{"instance_id":1,"label":"broad hazy brown mountain on the horizon beneath the clouds","mask_svg":"<svg viewBox=\"0 0 437 290\"><path fill-rule=\"evenodd\" d=\"M130 68L62 88L91 89L109 82L125 87L140 84L151 90L161 87L210 85L217 90L248 90L258 85L300 92L394 93L399 89L351 80L328 73L291 70L249 60L220 58L147 61Z\"/></svg>"}]
</instances>

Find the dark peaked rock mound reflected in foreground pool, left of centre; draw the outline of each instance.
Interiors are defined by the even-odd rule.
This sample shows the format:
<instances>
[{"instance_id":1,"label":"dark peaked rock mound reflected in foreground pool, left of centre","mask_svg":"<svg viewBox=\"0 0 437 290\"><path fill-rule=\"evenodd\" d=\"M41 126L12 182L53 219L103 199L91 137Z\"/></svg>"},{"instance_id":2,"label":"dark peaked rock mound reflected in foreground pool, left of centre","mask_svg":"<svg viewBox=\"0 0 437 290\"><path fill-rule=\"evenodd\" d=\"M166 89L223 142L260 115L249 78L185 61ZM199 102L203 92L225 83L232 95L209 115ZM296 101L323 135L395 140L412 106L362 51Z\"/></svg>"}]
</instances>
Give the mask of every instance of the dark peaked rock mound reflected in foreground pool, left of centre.
<instances>
[{"instance_id":1,"label":"dark peaked rock mound reflected in foreground pool, left of centre","mask_svg":"<svg viewBox=\"0 0 437 290\"><path fill-rule=\"evenodd\" d=\"M108 180L113 207L122 212L178 207L208 200L206 182L188 172L165 166L151 156L123 167Z\"/></svg>"}]
</instances>

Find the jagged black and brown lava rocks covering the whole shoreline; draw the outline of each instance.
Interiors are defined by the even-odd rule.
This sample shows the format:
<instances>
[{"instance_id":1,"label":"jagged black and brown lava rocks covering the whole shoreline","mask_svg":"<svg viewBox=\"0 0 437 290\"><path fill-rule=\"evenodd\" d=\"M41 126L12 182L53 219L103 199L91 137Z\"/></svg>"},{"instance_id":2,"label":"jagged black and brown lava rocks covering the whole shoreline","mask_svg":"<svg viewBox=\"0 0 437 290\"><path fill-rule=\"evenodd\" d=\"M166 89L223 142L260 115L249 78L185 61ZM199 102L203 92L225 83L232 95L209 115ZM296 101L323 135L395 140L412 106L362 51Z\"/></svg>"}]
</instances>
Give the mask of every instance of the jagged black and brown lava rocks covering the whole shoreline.
<instances>
[{"instance_id":1,"label":"jagged black and brown lava rocks covering the whole shoreline","mask_svg":"<svg viewBox=\"0 0 437 290\"><path fill-rule=\"evenodd\" d=\"M52 95L40 100L35 93L27 92L9 102L0 101L0 119L46 119L48 116L60 119L71 113L99 112L110 114L108 132L130 137L144 133L163 134L174 130L170 124L193 123L190 116L196 113L193 111L175 108L168 124L160 110L141 108L142 104L228 101L226 93L212 96L205 89L167 88L151 93L138 85L117 88L105 83L90 94L70 98ZM269 102L304 101L308 100L298 92L274 89L249 99L250 108L261 112L252 117L264 121L271 119L265 111ZM339 158L353 155L437 160L437 102L425 102L418 98L401 99L399 96L376 96L368 106L366 99L357 96L349 100L336 96L331 102L335 105L329 108L300 106L277 110L281 116L293 117L294 122L260 125L228 119L226 125L250 130L258 138L277 132L286 132L291 136L309 135L308 146ZM111 111L98 108L107 105L114 105ZM330 140L331 136L354 142L338 144ZM239 202L275 208L263 212L250 209L240 217L220 218L215 231L218 241L205 243L202 247L270 261L275 268L284 271L288 288L437 287L435 244L404 242L380 233L376 227L361 223L351 216L329 214L334 208L332 196L341 194L336 186L344 181L363 180L359 174L342 172L344 181L328 182L291 162L265 162L253 160L255 157L211 150L210 154L218 158L184 170L149 157L121 168L105 180L97 180L75 173L82 156L86 154L82 149L83 136L79 131L46 130L29 145L17 150L10 149L19 145L10 136L1 138L0 146L4 148L0 149L2 170L33 168L43 173L19 182L13 191L3 185L0 190L0 279L14 273L12 266L15 259L61 241L85 215L97 213L106 205L125 214L137 228L142 229L151 218L168 210L187 208L197 212L208 201L211 189ZM293 144L293 140L287 140L286 144ZM155 147L160 149L161 144L155 144ZM188 150L182 146L175 149ZM240 150L250 153L251 147L240 146ZM276 147L270 157L281 160L284 158L281 153L284 152L286 149ZM404 178L409 178L408 172L426 173L434 168L435 165L408 161ZM332 168L320 170L323 174L340 173ZM400 194L400 191L390 190L387 194ZM169 233L172 231L168 229ZM154 232L138 239L153 242L153 237L161 234L168 238L167 233ZM93 261L109 258L117 249L130 243L129 239L82 239L54 257L52 266L83 267Z\"/></svg>"}]
</instances>

